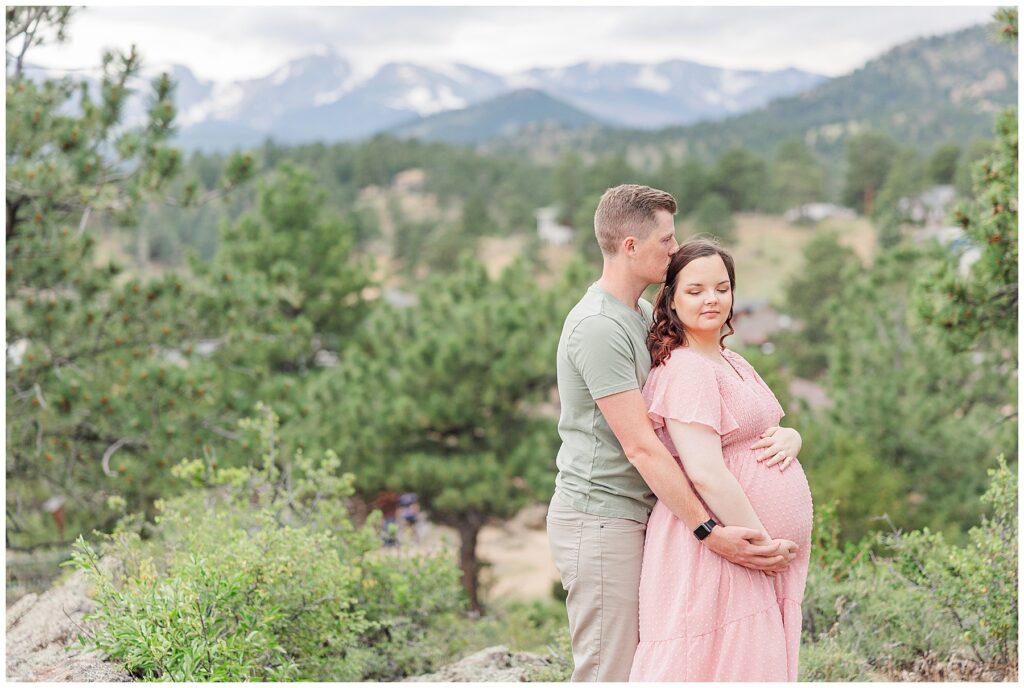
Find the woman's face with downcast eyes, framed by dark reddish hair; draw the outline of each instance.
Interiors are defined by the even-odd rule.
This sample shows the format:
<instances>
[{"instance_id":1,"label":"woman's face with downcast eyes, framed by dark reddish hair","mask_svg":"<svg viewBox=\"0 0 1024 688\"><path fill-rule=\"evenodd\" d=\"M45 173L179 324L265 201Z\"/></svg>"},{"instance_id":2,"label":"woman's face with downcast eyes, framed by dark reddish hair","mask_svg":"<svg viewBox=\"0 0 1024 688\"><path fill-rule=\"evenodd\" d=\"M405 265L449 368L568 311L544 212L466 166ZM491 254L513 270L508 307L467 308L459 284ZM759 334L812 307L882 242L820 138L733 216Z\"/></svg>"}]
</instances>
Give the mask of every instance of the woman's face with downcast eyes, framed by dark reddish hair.
<instances>
[{"instance_id":1,"label":"woman's face with downcast eyes, framed by dark reddish hair","mask_svg":"<svg viewBox=\"0 0 1024 688\"><path fill-rule=\"evenodd\" d=\"M732 310L732 287L721 256L695 258L683 266L672 309L687 331L718 336Z\"/></svg>"}]
</instances>

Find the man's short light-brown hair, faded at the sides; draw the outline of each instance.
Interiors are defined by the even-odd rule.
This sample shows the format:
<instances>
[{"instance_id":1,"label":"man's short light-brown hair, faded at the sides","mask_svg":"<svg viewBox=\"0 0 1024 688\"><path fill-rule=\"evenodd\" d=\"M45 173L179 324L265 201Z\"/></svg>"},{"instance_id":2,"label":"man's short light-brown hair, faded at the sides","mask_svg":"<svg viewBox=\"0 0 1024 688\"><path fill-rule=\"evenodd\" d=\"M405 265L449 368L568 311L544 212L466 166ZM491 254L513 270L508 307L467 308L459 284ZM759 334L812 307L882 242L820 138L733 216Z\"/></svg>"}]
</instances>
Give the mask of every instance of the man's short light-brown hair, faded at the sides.
<instances>
[{"instance_id":1,"label":"man's short light-brown hair, faded at the sides","mask_svg":"<svg viewBox=\"0 0 1024 688\"><path fill-rule=\"evenodd\" d=\"M678 206L672 193L640 184L609 188L597 204L594 233L605 256L613 256L627 236L645 239L654 228L659 210L675 215Z\"/></svg>"}]
</instances>

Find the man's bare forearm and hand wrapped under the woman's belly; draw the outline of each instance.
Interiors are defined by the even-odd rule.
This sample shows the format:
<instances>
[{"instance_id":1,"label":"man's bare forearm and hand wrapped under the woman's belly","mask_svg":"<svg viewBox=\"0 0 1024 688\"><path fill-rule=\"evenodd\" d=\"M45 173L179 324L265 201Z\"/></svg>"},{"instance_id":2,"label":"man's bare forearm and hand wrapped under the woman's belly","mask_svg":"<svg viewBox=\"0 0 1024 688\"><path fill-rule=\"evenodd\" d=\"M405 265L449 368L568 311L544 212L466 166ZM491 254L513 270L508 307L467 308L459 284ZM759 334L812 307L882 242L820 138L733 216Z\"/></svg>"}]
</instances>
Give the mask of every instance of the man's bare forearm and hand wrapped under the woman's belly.
<instances>
[{"instance_id":1,"label":"man's bare forearm and hand wrapped under the woman's belly","mask_svg":"<svg viewBox=\"0 0 1024 688\"><path fill-rule=\"evenodd\" d=\"M654 434L640 390L611 394L596 402L626 458L676 518L690 530L711 518L680 472L676 460ZM764 571L785 570L796 556L796 544L790 541L772 541L769 545L752 543L761 539L762 534L751 528L719 526L712 529L703 543L734 564Z\"/></svg>"}]
</instances>

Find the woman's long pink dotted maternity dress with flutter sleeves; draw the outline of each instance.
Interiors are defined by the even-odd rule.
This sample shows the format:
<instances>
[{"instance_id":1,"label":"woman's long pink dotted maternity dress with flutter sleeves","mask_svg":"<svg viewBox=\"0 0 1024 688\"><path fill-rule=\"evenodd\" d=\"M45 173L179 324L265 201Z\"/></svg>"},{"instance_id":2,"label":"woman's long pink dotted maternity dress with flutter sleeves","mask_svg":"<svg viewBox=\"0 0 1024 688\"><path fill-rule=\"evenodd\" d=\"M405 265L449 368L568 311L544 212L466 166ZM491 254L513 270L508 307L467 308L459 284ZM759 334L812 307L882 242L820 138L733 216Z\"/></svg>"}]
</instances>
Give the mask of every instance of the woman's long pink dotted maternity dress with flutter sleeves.
<instances>
[{"instance_id":1,"label":"woman's long pink dotted maternity dress with flutter sleeves","mask_svg":"<svg viewBox=\"0 0 1024 688\"><path fill-rule=\"evenodd\" d=\"M785 572L770 577L713 553L664 505L655 505L647 523L640 645L630 681L797 680L811 491L798 462L780 472L755 461L751 444L778 425L782 407L746 359L722 353L742 379L678 348L647 379L648 415L677 461L666 419L700 423L721 435L725 465L765 528L772 538L792 540L799 551Z\"/></svg>"}]
</instances>

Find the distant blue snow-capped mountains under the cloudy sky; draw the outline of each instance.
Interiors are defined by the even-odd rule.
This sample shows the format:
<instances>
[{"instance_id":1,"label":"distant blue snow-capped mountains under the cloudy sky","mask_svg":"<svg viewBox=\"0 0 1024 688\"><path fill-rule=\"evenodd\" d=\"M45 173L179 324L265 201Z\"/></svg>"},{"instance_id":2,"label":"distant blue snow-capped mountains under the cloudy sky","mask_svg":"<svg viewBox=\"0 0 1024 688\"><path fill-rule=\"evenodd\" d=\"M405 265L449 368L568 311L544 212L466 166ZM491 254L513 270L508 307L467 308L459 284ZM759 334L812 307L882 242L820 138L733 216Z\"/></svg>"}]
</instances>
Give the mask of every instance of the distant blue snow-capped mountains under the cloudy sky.
<instances>
[{"instance_id":1,"label":"distant blue snow-capped mountains under the cloudy sky","mask_svg":"<svg viewBox=\"0 0 1024 688\"><path fill-rule=\"evenodd\" d=\"M610 126L650 129L723 119L825 80L799 70L734 71L682 60L591 61L512 76L468 64L392 62L359 79L330 48L264 77L229 83L201 80L182 66L169 71L177 84L177 140L208 150L258 145L268 137L284 143L357 140L521 89L542 91ZM127 109L133 120L144 117L147 89L139 82Z\"/></svg>"}]
</instances>

